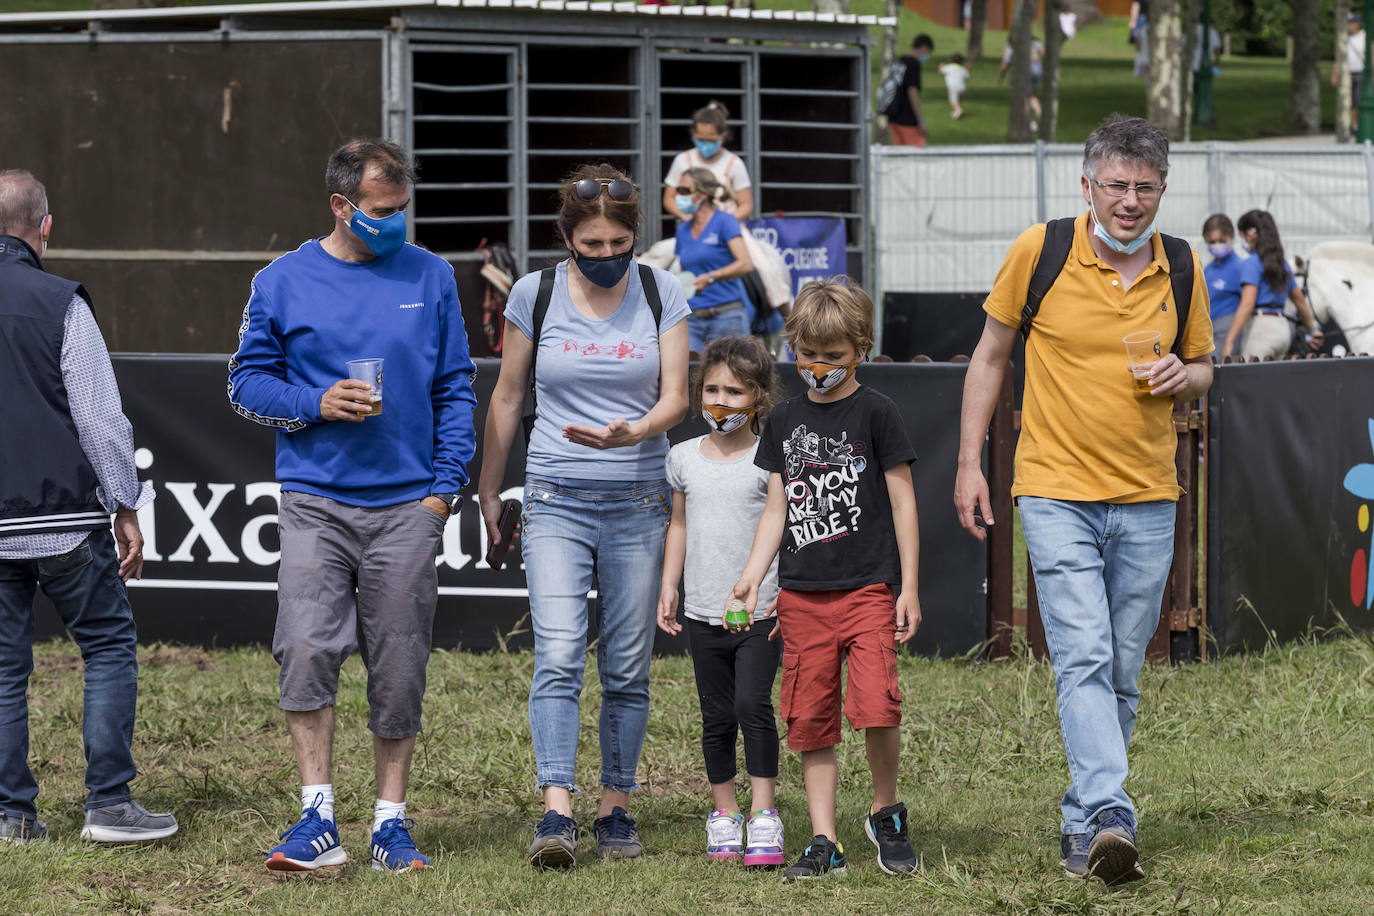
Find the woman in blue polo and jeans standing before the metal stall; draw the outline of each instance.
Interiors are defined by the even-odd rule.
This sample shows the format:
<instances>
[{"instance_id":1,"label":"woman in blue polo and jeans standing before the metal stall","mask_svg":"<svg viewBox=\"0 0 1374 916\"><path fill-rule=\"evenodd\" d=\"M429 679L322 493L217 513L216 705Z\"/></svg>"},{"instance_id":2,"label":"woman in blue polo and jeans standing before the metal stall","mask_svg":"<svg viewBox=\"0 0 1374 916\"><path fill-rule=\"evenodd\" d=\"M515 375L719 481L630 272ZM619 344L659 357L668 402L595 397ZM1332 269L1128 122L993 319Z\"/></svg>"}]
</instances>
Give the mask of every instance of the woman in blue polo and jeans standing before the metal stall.
<instances>
[{"instance_id":1,"label":"woman in blue polo and jeans standing before the metal stall","mask_svg":"<svg viewBox=\"0 0 1374 916\"><path fill-rule=\"evenodd\" d=\"M675 188L677 209L687 218L677 224L677 260L695 273L695 293L687 299L687 335L692 350L723 336L749 336L753 306L739 277L753 271L739 233L739 220L719 209L731 199L710 169L688 169Z\"/></svg>"}]
</instances>

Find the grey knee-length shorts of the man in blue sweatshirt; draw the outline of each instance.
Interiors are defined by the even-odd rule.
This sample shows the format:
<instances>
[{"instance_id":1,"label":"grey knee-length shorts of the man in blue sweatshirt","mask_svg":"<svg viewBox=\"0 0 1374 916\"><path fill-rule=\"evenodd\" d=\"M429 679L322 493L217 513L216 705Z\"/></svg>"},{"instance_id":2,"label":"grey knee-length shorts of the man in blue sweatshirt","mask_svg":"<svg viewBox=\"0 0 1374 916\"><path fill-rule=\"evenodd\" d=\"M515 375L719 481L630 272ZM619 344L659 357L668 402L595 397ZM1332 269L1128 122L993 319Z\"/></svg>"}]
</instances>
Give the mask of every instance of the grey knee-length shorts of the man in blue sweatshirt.
<instances>
[{"instance_id":1,"label":"grey knee-length shorts of the man in blue sweatshirt","mask_svg":"<svg viewBox=\"0 0 1374 916\"><path fill-rule=\"evenodd\" d=\"M334 706L339 666L360 651L368 729L390 739L420 731L444 523L419 500L361 508L282 493L272 637L282 709Z\"/></svg>"}]
</instances>

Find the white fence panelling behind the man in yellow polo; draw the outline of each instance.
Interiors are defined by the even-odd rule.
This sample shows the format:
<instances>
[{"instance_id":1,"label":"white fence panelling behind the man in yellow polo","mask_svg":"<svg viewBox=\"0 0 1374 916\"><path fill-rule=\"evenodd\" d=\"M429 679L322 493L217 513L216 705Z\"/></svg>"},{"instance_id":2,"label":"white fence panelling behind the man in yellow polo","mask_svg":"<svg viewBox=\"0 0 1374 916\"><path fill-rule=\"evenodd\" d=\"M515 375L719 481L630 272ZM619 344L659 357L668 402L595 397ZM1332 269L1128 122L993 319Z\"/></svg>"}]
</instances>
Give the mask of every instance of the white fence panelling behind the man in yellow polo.
<instances>
[{"instance_id":1,"label":"white fence panelling behind the man in yellow polo","mask_svg":"<svg viewBox=\"0 0 1374 916\"><path fill-rule=\"evenodd\" d=\"M1318 242L1371 238L1371 172L1355 146L1173 144L1157 225L1202 251L1209 214L1270 210L1292 261ZM872 147L877 293L991 290L1026 227L1083 211L1081 173L1070 144Z\"/></svg>"}]
</instances>

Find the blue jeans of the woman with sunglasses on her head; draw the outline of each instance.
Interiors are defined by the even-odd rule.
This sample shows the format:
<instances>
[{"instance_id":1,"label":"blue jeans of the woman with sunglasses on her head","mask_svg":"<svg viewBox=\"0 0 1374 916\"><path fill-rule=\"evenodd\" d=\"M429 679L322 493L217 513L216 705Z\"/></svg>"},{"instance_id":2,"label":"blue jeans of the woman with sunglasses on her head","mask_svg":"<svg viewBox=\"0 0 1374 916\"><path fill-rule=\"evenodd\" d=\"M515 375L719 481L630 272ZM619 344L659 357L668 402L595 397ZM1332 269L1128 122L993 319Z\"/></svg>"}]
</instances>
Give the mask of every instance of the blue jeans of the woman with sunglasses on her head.
<instances>
[{"instance_id":1,"label":"blue jeans of the woman with sunglasses on her head","mask_svg":"<svg viewBox=\"0 0 1374 916\"><path fill-rule=\"evenodd\" d=\"M529 731L540 788L576 791L587 593L596 595L600 784L635 788L672 490L664 481L525 481L521 551L534 629Z\"/></svg>"}]
</instances>

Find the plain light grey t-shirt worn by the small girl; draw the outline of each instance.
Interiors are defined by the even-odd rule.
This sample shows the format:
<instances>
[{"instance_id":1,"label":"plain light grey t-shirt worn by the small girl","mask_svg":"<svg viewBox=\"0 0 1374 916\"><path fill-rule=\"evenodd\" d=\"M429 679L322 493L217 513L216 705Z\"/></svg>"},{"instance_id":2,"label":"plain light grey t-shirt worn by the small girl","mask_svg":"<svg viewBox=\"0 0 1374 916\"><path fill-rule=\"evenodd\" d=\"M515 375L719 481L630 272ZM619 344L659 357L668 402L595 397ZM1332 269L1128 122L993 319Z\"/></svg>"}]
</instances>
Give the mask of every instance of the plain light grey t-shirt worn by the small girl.
<instances>
[{"instance_id":1,"label":"plain light grey t-shirt worn by the small girl","mask_svg":"<svg viewBox=\"0 0 1374 916\"><path fill-rule=\"evenodd\" d=\"M754 529L768 501L768 472L754 464L758 442L734 461L701 453L705 435L668 452L668 486L687 494L687 563L683 612L694 621L720 623L730 589L739 581L754 544ZM758 586L754 619L778 597L778 558Z\"/></svg>"}]
</instances>

